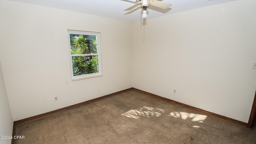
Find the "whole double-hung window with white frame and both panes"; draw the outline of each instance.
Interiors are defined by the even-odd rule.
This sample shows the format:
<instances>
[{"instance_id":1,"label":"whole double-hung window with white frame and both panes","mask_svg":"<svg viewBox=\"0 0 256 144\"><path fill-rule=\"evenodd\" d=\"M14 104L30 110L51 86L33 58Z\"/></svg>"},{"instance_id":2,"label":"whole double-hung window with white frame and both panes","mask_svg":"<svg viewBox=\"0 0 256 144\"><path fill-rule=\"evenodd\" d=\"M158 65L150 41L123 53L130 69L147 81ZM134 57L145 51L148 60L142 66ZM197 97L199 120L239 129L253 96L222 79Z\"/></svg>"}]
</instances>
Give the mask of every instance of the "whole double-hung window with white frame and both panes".
<instances>
[{"instance_id":1,"label":"whole double-hung window with white frame and both panes","mask_svg":"<svg viewBox=\"0 0 256 144\"><path fill-rule=\"evenodd\" d=\"M99 35L68 30L72 80L101 76Z\"/></svg>"}]
</instances>

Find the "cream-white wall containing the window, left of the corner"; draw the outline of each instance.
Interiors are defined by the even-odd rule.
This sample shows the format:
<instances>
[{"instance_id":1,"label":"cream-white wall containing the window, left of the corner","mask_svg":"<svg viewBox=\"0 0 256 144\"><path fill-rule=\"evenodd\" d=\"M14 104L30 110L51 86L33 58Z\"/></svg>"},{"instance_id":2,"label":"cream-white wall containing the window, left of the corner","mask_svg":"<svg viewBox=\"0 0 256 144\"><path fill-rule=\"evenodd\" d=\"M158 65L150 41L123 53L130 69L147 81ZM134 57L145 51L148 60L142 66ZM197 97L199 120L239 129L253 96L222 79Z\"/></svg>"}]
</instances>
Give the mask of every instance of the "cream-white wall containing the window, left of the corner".
<instances>
[{"instance_id":1,"label":"cream-white wall containing the window, left of the corner","mask_svg":"<svg viewBox=\"0 0 256 144\"><path fill-rule=\"evenodd\" d=\"M6 0L0 13L0 60L14 121L132 87L131 23ZM101 33L103 76L71 81L68 29Z\"/></svg>"}]
</instances>

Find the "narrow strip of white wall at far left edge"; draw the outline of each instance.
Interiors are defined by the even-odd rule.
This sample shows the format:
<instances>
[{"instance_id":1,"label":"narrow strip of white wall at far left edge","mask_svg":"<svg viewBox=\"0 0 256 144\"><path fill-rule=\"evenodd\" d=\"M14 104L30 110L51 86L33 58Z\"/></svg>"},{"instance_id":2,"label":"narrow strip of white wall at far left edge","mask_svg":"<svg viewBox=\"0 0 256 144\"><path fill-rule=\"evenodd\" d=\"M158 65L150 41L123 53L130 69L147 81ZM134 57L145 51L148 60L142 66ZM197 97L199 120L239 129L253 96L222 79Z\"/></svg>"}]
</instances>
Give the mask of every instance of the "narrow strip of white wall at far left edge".
<instances>
[{"instance_id":1,"label":"narrow strip of white wall at far left edge","mask_svg":"<svg viewBox=\"0 0 256 144\"><path fill-rule=\"evenodd\" d=\"M1 4L1 2L0 2ZM12 136L13 119L10 110L0 62L0 136ZM1 144L10 144L11 139L0 139Z\"/></svg>"}]
</instances>

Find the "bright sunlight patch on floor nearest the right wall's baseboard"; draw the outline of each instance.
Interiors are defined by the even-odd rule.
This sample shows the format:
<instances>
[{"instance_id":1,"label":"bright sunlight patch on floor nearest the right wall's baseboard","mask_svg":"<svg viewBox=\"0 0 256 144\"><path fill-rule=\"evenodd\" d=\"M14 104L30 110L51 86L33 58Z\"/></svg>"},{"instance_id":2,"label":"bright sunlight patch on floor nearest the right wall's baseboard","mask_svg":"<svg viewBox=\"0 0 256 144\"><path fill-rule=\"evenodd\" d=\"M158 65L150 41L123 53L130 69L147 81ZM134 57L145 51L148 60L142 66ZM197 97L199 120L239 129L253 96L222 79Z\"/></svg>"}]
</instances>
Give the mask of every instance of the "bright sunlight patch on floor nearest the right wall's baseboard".
<instances>
[{"instance_id":1,"label":"bright sunlight patch on floor nearest the right wall's baseboard","mask_svg":"<svg viewBox=\"0 0 256 144\"><path fill-rule=\"evenodd\" d=\"M202 114L193 114L188 112L171 112L169 116L172 116L174 118L181 118L182 120L190 119L192 122L204 122L204 120L207 118L206 115Z\"/></svg>"}]
</instances>

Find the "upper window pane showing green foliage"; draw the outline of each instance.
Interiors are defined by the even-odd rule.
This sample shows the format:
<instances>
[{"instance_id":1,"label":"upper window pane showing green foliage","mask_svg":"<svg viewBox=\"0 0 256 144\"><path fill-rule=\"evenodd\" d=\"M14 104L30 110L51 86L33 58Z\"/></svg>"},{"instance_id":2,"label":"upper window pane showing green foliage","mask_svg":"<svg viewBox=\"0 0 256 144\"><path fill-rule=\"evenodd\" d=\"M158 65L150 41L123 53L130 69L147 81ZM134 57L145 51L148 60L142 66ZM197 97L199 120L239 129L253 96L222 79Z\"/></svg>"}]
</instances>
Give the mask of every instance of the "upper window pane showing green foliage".
<instances>
[{"instance_id":1,"label":"upper window pane showing green foliage","mask_svg":"<svg viewBox=\"0 0 256 144\"><path fill-rule=\"evenodd\" d=\"M71 54L97 54L96 36L70 34Z\"/></svg>"}]
</instances>

